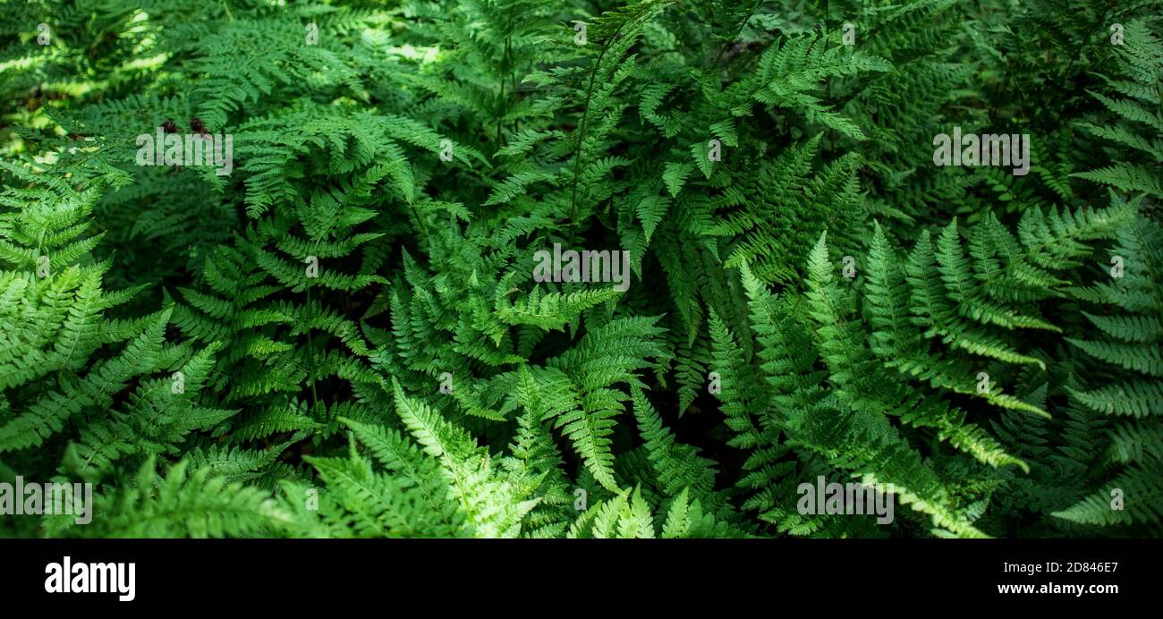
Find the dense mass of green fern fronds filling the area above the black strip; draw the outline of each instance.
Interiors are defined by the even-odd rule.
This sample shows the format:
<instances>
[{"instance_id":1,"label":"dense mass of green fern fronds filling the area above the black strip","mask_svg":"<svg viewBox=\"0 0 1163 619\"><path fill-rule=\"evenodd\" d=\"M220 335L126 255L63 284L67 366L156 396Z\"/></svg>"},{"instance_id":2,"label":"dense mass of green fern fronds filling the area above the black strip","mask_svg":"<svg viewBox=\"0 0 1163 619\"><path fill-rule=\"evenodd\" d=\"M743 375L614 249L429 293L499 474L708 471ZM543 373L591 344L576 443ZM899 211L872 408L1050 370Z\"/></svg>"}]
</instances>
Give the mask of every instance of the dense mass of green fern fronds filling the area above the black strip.
<instances>
[{"instance_id":1,"label":"dense mass of green fern fronds filling the area above the black strip","mask_svg":"<svg viewBox=\"0 0 1163 619\"><path fill-rule=\"evenodd\" d=\"M0 10L0 535L1163 534L1157 1Z\"/></svg>"}]
</instances>

